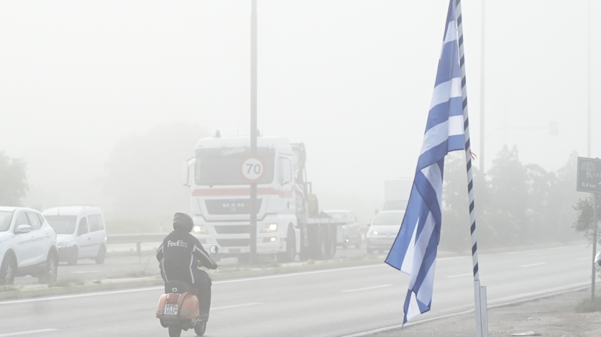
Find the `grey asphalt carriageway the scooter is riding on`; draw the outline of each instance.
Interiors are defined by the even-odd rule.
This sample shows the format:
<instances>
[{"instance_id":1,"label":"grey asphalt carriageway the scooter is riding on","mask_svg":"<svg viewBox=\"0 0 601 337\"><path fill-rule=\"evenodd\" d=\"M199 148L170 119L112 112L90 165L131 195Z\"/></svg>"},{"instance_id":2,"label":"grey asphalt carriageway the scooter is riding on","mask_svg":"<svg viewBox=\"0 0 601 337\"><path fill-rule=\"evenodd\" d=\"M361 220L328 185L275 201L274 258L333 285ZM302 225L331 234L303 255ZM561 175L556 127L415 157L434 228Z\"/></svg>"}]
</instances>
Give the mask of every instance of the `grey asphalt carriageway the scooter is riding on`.
<instances>
[{"instance_id":1,"label":"grey asphalt carriageway the scooter is riding on","mask_svg":"<svg viewBox=\"0 0 601 337\"><path fill-rule=\"evenodd\" d=\"M481 255L481 281L489 303L586 284L590 255L584 245ZM433 309L418 319L473 306L471 267L471 257L440 258ZM215 282L206 336L344 336L399 324L408 281L382 264ZM154 287L0 302L0 337L168 336L154 318L161 293Z\"/></svg>"}]
</instances>

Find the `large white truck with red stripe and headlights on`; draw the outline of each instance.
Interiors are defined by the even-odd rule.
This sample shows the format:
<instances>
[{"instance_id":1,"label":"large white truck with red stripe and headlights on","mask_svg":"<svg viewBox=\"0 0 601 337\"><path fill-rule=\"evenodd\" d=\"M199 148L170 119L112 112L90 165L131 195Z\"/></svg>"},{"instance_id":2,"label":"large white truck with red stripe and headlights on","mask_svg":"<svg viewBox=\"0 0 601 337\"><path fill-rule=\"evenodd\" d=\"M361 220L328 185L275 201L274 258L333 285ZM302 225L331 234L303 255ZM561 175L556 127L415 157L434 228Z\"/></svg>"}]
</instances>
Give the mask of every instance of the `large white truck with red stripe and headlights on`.
<instances>
[{"instance_id":1,"label":"large white truck with red stripe and headlights on","mask_svg":"<svg viewBox=\"0 0 601 337\"><path fill-rule=\"evenodd\" d=\"M198 141L183 164L183 184L192 191L193 234L217 245L221 257L249 260L250 183L257 182L257 254L278 261L329 258L342 240L338 224L319 211L307 182L303 143L285 137L212 137ZM338 237L340 236L340 237Z\"/></svg>"}]
</instances>

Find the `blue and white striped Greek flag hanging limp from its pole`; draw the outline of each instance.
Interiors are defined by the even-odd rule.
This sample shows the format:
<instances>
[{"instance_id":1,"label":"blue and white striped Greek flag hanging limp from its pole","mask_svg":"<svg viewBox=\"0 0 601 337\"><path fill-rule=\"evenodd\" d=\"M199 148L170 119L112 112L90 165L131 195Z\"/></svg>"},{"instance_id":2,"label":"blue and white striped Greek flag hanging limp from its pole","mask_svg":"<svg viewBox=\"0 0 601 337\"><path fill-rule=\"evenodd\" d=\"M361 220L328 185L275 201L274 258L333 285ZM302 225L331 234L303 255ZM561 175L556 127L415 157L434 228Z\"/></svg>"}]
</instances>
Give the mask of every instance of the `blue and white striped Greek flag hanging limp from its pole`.
<instances>
[{"instance_id":1,"label":"blue and white striped Greek flag hanging limp from its pole","mask_svg":"<svg viewBox=\"0 0 601 337\"><path fill-rule=\"evenodd\" d=\"M410 275L403 324L429 311L432 306L436 248L441 236L445 155L465 149L458 40L455 0L451 0L409 203L401 229L386 258L390 266Z\"/></svg>"}]
</instances>

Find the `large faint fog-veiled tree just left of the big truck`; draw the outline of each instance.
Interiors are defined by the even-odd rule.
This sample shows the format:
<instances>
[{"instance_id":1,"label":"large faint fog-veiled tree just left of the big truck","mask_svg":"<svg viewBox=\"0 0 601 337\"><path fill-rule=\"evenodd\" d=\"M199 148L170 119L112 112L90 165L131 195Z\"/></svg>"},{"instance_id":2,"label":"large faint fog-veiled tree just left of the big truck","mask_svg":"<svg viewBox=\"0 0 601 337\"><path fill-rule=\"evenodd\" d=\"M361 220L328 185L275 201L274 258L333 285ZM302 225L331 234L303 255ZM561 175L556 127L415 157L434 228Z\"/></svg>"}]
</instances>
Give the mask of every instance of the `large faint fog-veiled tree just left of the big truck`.
<instances>
[{"instance_id":1,"label":"large faint fog-veiled tree just left of the big truck","mask_svg":"<svg viewBox=\"0 0 601 337\"><path fill-rule=\"evenodd\" d=\"M190 190L182 185L182 163L206 136L199 125L179 122L121 139L109 155L103 183L112 198L111 215L139 219L189 212Z\"/></svg>"}]
</instances>

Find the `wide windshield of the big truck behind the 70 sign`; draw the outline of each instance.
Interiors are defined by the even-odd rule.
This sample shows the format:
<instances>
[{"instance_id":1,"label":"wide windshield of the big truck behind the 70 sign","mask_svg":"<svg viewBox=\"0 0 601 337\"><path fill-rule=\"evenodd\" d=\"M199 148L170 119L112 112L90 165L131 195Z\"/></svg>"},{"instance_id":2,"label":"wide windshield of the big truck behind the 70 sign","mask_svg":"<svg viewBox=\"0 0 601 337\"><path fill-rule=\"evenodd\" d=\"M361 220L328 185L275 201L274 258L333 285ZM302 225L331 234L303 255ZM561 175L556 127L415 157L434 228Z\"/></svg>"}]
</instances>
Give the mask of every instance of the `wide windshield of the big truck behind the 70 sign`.
<instances>
[{"instance_id":1,"label":"wide windshield of the big truck behind the 70 sign","mask_svg":"<svg viewBox=\"0 0 601 337\"><path fill-rule=\"evenodd\" d=\"M194 180L197 185L248 185L242 174L242 163L251 157L249 147L197 149ZM263 163L263 175L257 183L273 182L275 150L257 148L257 155Z\"/></svg>"}]
</instances>

